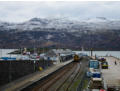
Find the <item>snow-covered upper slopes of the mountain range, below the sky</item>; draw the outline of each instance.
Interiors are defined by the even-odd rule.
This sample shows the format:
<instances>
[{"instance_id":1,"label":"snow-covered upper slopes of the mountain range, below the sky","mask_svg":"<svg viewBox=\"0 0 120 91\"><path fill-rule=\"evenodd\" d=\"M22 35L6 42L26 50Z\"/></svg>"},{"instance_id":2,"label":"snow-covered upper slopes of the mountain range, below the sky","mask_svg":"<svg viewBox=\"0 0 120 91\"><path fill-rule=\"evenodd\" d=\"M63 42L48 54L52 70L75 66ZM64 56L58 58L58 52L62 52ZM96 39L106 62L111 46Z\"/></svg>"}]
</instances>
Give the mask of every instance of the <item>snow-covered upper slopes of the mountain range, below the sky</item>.
<instances>
[{"instance_id":1,"label":"snow-covered upper slopes of the mountain range, below the sky","mask_svg":"<svg viewBox=\"0 0 120 91\"><path fill-rule=\"evenodd\" d=\"M18 31L68 31L76 32L81 30L108 30L120 29L120 20L110 20L104 17L97 17L86 20L73 20L69 18L32 18L29 21L14 24L0 21L0 28L5 30ZM1 30L0 29L0 30Z\"/></svg>"}]
</instances>

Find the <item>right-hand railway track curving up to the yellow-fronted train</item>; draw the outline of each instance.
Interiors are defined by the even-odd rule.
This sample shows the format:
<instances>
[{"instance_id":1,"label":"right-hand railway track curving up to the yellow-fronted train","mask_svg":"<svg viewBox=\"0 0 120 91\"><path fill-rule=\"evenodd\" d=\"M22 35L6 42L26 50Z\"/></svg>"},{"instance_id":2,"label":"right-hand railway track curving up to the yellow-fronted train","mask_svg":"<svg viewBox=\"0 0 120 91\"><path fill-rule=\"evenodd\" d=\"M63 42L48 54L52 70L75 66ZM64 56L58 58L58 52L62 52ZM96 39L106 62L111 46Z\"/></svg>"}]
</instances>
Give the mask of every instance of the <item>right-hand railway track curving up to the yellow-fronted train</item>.
<instances>
[{"instance_id":1,"label":"right-hand railway track curving up to the yellow-fronted train","mask_svg":"<svg viewBox=\"0 0 120 91\"><path fill-rule=\"evenodd\" d=\"M84 67L86 67L86 65L87 61L78 63L76 70L64 81L64 83L61 84L61 86L56 91L74 91L72 87L77 80L82 78L83 72L85 71Z\"/></svg>"}]
</instances>

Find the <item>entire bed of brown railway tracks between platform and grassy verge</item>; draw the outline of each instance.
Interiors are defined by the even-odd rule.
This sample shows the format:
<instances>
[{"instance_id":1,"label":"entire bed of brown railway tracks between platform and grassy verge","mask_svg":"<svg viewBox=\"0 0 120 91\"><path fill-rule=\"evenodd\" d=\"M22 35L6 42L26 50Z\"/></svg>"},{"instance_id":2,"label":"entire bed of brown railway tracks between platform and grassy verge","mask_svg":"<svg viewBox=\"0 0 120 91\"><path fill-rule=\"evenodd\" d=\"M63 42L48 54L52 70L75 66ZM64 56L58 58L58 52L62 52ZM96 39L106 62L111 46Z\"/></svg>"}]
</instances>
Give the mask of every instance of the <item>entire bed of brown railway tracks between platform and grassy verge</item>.
<instances>
[{"instance_id":1,"label":"entire bed of brown railway tracks between platform and grassy verge","mask_svg":"<svg viewBox=\"0 0 120 91\"><path fill-rule=\"evenodd\" d=\"M74 80L80 75L81 67L80 62L72 62L22 91L69 91Z\"/></svg>"}]
</instances>

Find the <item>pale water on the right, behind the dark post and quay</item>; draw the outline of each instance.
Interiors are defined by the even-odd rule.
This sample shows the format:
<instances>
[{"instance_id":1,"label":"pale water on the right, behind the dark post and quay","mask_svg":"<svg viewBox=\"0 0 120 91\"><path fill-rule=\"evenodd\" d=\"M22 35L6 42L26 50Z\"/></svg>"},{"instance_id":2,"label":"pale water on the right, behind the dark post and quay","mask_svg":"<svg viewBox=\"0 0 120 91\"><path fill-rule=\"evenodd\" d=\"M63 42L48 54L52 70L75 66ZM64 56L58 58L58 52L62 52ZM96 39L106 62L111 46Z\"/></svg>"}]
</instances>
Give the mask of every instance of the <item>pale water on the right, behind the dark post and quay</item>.
<instances>
[{"instance_id":1,"label":"pale water on the right, behind the dark post and quay","mask_svg":"<svg viewBox=\"0 0 120 91\"><path fill-rule=\"evenodd\" d=\"M90 56L90 51L75 51L76 53L86 53ZM93 56L114 56L120 58L120 51L93 51Z\"/></svg>"}]
</instances>

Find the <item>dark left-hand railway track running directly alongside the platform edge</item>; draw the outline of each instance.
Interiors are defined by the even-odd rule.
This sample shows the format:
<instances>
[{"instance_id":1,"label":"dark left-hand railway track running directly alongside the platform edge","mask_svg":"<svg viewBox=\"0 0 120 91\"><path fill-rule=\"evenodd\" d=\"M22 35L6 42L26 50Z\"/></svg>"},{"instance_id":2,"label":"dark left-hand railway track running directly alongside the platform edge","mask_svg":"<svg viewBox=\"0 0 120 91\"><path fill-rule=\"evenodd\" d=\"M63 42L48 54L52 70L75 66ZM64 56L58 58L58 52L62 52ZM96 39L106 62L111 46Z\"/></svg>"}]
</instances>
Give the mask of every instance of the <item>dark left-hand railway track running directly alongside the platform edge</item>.
<instances>
[{"instance_id":1,"label":"dark left-hand railway track running directly alongside the platform edge","mask_svg":"<svg viewBox=\"0 0 120 91\"><path fill-rule=\"evenodd\" d=\"M48 74L47 76L43 77L42 79L40 79L39 81L29 85L26 88L23 88L21 91L31 91L31 89L35 88L34 91L37 91L37 89L42 89L45 90L46 88L49 88L51 84L55 83L58 79L61 78L61 76L63 76L69 69L67 68L67 66L71 65L73 63L69 63L67 65L64 65L63 67L59 68L58 70L56 70L55 72ZM71 66L72 67L72 66ZM67 69L67 70L64 70ZM63 71L64 70L64 71ZM58 75L58 73L60 73ZM56 77L57 76L57 77ZM55 79L56 77L56 79ZM51 79L55 79L54 81L52 81L52 83L49 83L49 85L45 88L43 88L43 85L47 84L48 82L51 82ZM40 85L41 84L41 85Z\"/></svg>"}]
</instances>

